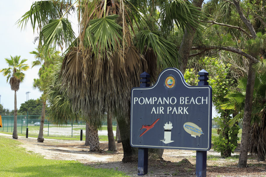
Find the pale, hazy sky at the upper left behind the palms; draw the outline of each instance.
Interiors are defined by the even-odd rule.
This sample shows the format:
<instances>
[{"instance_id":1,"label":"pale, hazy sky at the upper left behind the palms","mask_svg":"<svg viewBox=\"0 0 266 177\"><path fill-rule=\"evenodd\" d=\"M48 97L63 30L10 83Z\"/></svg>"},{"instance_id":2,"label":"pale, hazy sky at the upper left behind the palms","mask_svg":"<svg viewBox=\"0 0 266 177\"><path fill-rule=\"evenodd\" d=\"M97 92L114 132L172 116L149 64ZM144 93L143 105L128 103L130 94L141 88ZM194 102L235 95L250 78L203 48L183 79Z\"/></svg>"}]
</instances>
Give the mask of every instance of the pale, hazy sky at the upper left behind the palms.
<instances>
[{"instance_id":1,"label":"pale, hazy sky at the upper left behind the palms","mask_svg":"<svg viewBox=\"0 0 266 177\"><path fill-rule=\"evenodd\" d=\"M30 10L32 3L33 0L9 0L7 4L0 6L0 69L8 67L5 58L11 58L10 55L20 55L20 59L27 59L25 63L30 66L30 69L24 72L25 79L20 83L20 89L17 91L17 109L26 101L26 92L30 92L29 99L40 98L42 94L38 89L33 89L33 79L38 78L39 67L31 68L35 58L33 54L29 53L37 47L38 42L33 43L37 34L33 34L30 24L26 30L22 31L16 25L17 20ZM74 19L70 19L70 21L74 21ZM11 90L7 78L2 73L0 73L0 95L0 104L4 108L13 110L14 91Z\"/></svg>"}]
</instances>

